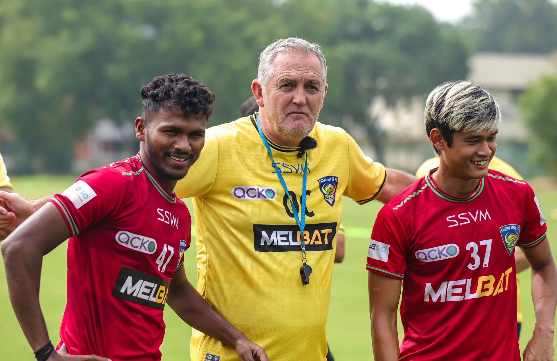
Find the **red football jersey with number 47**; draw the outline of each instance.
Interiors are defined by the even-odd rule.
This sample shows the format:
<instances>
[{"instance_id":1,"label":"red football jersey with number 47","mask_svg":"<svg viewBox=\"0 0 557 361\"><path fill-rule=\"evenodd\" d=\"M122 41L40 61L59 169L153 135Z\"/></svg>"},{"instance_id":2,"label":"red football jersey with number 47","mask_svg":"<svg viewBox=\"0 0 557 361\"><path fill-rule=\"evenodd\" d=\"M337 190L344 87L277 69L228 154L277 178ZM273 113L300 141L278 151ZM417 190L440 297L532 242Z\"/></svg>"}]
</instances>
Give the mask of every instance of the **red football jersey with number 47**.
<instances>
[{"instance_id":1,"label":"red football jersey with number 47","mask_svg":"<svg viewBox=\"0 0 557 361\"><path fill-rule=\"evenodd\" d=\"M168 286L190 243L185 204L139 154L82 174L50 202L71 232L60 344L75 355L160 360Z\"/></svg>"}]
</instances>

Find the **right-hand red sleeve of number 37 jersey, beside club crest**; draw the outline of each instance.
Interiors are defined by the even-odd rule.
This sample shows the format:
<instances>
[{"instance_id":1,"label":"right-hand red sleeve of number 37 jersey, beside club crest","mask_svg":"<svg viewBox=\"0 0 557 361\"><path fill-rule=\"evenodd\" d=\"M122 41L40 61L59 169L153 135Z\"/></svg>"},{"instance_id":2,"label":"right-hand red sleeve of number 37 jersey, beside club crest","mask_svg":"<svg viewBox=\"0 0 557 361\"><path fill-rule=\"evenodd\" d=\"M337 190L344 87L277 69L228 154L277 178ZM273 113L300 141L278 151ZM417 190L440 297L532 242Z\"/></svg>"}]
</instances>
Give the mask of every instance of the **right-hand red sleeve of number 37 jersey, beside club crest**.
<instances>
[{"instance_id":1,"label":"right-hand red sleeve of number 37 jersey, beside club crest","mask_svg":"<svg viewBox=\"0 0 557 361\"><path fill-rule=\"evenodd\" d=\"M534 194L534 190L529 184L526 184L526 186L528 187L526 223L520 231L519 241L516 245L531 248L539 245L545 239L548 226L545 224L545 217L541 213L540 203Z\"/></svg>"}]
</instances>

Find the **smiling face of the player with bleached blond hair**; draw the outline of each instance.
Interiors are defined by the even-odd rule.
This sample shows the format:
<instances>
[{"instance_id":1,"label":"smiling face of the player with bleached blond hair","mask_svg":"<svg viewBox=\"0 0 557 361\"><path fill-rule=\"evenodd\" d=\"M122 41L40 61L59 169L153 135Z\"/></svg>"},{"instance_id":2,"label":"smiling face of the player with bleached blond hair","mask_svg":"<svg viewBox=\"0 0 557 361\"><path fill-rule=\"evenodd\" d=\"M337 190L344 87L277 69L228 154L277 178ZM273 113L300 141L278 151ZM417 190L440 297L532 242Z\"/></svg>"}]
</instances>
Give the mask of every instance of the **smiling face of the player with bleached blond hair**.
<instances>
[{"instance_id":1,"label":"smiling face of the player with bleached blond hair","mask_svg":"<svg viewBox=\"0 0 557 361\"><path fill-rule=\"evenodd\" d=\"M444 171L465 180L485 177L497 150L496 134L497 130L470 133L456 131L451 147L447 146L446 140L441 139L441 144L434 145L441 150Z\"/></svg>"}]
</instances>

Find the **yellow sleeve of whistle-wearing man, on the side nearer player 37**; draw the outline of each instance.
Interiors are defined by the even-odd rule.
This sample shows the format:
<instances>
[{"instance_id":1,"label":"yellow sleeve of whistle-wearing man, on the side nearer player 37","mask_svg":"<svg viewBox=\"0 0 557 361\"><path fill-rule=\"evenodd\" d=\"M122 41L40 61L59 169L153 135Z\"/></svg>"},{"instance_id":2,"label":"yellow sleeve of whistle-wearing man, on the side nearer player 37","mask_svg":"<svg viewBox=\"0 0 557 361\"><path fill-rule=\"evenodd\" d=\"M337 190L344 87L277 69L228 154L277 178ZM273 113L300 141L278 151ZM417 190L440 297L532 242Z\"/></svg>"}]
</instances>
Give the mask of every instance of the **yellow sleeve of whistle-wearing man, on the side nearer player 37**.
<instances>
[{"instance_id":1,"label":"yellow sleeve of whistle-wearing man, on the side nearer player 37","mask_svg":"<svg viewBox=\"0 0 557 361\"><path fill-rule=\"evenodd\" d=\"M359 204L373 201L385 187L387 171L383 164L373 162L372 158L364 155L349 134L346 134L346 138L348 139L349 179L344 196L354 199Z\"/></svg>"}]
</instances>

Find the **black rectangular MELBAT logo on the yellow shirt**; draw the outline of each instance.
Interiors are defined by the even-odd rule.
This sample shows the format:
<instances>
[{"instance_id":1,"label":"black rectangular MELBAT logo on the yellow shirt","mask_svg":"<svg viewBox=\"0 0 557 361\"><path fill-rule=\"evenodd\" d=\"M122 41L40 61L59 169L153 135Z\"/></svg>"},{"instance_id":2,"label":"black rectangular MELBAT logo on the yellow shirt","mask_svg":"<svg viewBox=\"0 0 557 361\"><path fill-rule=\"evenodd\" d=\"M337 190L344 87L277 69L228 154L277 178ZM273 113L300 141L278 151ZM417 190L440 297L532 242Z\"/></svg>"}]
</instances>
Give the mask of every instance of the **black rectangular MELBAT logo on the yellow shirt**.
<instances>
[{"instance_id":1,"label":"black rectangular MELBAT logo on the yellow shirt","mask_svg":"<svg viewBox=\"0 0 557 361\"><path fill-rule=\"evenodd\" d=\"M333 249L336 222L308 224L304 233L297 225L253 225L253 245L257 252L299 252L301 241L306 251Z\"/></svg>"}]
</instances>

